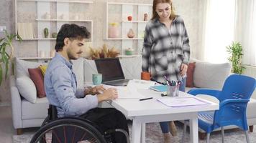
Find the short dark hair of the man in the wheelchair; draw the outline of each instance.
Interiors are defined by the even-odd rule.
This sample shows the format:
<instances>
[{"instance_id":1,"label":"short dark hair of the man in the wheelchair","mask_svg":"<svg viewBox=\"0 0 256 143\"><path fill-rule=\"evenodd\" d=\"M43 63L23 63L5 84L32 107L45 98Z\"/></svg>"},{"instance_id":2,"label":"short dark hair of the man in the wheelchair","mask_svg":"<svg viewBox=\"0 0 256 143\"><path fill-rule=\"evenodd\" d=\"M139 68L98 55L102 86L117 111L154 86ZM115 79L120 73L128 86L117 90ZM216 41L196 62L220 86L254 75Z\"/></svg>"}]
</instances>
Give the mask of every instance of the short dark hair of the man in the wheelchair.
<instances>
[{"instance_id":1,"label":"short dark hair of the man in the wheelchair","mask_svg":"<svg viewBox=\"0 0 256 143\"><path fill-rule=\"evenodd\" d=\"M85 26L78 26L76 24L63 24L60 31L58 32L55 50L60 51L64 46L64 39L89 39L91 33L86 29Z\"/></svg>"}]
</instances>

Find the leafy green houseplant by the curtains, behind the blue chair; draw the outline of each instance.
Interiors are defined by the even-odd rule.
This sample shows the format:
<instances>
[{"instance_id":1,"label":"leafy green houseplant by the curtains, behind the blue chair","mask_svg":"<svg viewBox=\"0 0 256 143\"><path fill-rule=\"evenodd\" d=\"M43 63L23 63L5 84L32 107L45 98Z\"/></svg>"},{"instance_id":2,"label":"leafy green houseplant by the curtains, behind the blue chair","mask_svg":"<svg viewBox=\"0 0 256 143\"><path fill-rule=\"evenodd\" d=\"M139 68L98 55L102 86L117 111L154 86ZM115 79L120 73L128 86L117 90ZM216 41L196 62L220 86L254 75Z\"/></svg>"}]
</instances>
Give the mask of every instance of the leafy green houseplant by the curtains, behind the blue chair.
<instances>
[{"instance_id":1,"label":"leafy green houseplant by the curtains, behind the blue chair","mask_svg":"<svg viewBox=\"0 0 256 143\"><path fill-rule=\"evenodd\" d=\"M227 51L229 54L228 60L232 63L232 72L236 74L242 74L243 70L245 69L242 66L242 45L239 42L232 42L231 45L227 46Z\"/></svg>"}]
</instances>

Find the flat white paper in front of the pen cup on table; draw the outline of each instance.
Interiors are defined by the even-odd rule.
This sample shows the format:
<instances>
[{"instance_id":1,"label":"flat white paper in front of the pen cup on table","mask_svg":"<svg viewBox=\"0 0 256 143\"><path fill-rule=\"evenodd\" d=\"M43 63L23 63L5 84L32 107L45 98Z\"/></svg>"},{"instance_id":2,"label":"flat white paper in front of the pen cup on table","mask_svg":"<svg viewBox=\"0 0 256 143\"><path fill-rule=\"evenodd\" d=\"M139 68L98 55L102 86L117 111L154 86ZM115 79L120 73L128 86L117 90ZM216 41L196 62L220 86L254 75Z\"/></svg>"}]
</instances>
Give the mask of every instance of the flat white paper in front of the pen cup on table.
<instances>
[{"instance_id":1,"label":"flat white paper in front of the pen cup on table","mask_svg":"<svg viewBox=\"0 0 256 143\"><path fill-rule=\"evenodd\" d=\"M165 97L157 99L157 101L165 104L168 107L187 107L211 104L201 99L197 99L196 97Z\"/></svg>"}]
</instances>

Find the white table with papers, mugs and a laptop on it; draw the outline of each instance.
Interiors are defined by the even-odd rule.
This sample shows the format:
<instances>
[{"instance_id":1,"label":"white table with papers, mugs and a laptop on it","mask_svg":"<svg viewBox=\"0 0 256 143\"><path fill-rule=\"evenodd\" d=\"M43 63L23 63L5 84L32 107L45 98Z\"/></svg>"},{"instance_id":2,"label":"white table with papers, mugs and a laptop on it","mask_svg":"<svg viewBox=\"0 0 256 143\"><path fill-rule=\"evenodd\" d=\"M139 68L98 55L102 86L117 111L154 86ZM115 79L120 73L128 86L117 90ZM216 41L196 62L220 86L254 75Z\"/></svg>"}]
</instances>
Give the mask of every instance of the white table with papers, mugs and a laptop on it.
<instances>
[{"instance_id":1,"label":"white table with papers, mugs and a laptop on it","mask_svg":"<svg viewBox=\"0 0 256 143\"><path fill-rule=\"evenodd\" d=\"M145 123L164 122L174 120L190 120L191 142L198 142L198 112L219 109L219 104L211 102L204 106L192 107L167 107L157 102L159 92L140 89L139 92L145 97L153 99L139 101L139 99L115 99L109 102L111 106L121 111L126 117L132 119L132 143L145 142ZM180 92L180 97L191 97L192 95ZM204 100L204 99L202 99Z\"/></svg>"}]
</instances>

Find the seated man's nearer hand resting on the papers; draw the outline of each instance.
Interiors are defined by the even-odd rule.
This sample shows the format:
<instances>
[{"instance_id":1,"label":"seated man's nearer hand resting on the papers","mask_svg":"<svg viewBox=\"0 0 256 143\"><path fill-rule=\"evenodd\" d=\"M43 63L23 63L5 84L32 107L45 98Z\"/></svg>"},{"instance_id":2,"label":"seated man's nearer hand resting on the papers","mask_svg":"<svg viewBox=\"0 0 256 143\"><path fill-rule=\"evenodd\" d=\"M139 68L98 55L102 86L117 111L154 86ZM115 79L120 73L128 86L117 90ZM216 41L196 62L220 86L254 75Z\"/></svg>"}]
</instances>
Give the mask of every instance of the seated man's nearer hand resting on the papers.
<instances>
[{"instance_id":1,"label":"seated man's nearer hand resting on the papers","mask_svg":"<svg viewBox=\"0 0 256 143\"><path fill-rule=\"evenodd\" d=\"M113 100L116 99L118 97L118 93L116 91L116 89L114 88L109 88L106 89L103 94L98 94L98 102L103 102L103 101L107 101L107 100Z\"/></svg>"}]
</instances>

